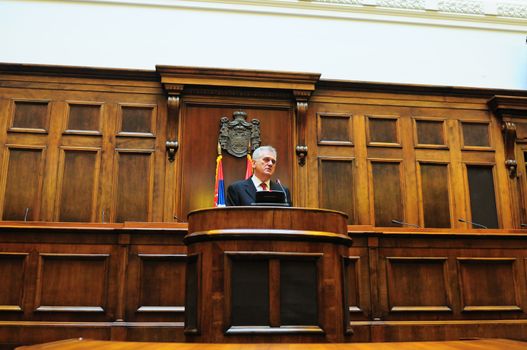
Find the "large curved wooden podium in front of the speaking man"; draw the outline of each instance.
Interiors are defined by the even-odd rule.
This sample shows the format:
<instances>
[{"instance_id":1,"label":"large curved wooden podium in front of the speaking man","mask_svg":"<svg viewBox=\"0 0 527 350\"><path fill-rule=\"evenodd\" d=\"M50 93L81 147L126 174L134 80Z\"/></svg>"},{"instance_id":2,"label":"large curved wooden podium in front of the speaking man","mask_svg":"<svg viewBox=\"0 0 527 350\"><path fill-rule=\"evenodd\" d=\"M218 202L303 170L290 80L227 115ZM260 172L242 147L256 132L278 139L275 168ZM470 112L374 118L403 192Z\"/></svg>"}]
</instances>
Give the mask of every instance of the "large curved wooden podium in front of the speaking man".
<instances>
[{"instance_id":1,"label":"large curved wooden podium in front of the speaking man","mask_svg":"<svg viewBox=\"0 0 527 350\"><path fill-rule=\"evenodd\" d=\"M345 342L346 220L307 208L191 212L187 341Z\"/></svg>"}]
</instances>

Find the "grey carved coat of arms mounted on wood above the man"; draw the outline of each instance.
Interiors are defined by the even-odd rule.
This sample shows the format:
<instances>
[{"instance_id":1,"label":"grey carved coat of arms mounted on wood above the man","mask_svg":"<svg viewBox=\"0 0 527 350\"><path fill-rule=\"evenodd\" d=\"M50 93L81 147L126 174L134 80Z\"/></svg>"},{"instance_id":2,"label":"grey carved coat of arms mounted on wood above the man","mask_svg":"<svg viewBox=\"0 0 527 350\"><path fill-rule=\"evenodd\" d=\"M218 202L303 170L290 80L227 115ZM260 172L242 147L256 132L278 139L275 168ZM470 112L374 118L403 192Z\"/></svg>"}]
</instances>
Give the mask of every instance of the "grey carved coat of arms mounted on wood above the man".
<instances>
[{"instance_id":1,"label":"grey carved coat of arms mounted on wood above the man","mask_svg":"<svg viewBox=\"0 0 527 350\"><path fill-rule=\"evenodd\" d=\"M248 122L247 113L242 111L234 112L232 117L232 120L227 117L220 119L218 142L227 153L245 157L247 152L260 147L260 121L253 119Z\"/></svg>"}]
</instances>

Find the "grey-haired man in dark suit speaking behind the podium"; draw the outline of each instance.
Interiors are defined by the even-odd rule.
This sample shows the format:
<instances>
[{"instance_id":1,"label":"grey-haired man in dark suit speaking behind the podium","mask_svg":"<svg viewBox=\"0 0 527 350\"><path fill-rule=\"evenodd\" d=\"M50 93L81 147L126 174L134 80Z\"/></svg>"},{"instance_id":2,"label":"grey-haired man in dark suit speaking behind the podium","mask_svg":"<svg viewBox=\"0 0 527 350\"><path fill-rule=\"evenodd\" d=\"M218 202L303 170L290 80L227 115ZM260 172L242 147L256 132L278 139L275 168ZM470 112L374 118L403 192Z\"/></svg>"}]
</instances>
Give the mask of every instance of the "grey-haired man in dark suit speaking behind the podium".
<instances>
[{"instance_id":1,"label":"grey-haired man in dark suit speaking behind the podium","mask_svg":"<svg viewBox=\"0 0 527 350\"><path fill-rule=\"evenodd\" d=\"M227 189L227 205L251 205L256 191L285 191L286 200L292 206L289 190L271 181L276 169L276 150L272 146L261 146L253 153L253 176L233 183Z\"/></svg>"}]
</instances>

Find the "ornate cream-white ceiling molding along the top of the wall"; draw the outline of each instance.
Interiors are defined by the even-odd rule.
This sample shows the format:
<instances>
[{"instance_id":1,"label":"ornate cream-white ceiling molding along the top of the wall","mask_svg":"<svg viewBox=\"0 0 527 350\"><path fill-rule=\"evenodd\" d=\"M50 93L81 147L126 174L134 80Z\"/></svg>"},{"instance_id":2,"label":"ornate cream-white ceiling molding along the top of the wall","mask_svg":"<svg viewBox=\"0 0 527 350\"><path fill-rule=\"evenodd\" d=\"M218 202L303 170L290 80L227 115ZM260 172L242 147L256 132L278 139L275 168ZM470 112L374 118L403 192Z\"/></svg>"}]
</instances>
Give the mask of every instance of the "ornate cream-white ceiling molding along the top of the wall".
<instances>
[{"instance_id":1,"label":"ornate cream-white ceiling molding along the top of the wall","mask_svg":"<svg viewBox=\"0 0 527 350\"><path fill-rule=\"evenodd\" d=\"M24 1L24 0L19 0ZM77 0L142 6L526 31L523 0Z\"/></svg>"}]
</instances>

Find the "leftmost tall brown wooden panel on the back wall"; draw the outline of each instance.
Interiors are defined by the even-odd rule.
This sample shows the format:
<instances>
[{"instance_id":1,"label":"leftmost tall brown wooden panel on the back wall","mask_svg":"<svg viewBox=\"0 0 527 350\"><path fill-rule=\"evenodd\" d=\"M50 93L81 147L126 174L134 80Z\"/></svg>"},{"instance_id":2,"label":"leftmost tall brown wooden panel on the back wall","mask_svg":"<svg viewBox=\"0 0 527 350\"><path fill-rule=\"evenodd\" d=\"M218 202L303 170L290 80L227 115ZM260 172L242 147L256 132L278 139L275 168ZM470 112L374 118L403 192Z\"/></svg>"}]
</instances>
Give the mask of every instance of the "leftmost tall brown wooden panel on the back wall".
<instances>
[{"instance_id":1,"label":"leftmost tall brown wooden panel on the back wall","mask_svg":"<svg viewBox=\"0 0 527 350\"><path fill-rule=\"evenodd\" d=\"M4 157L3 220L38 220L45 150L9 145Z\"/></svg>"}]
</instances>

